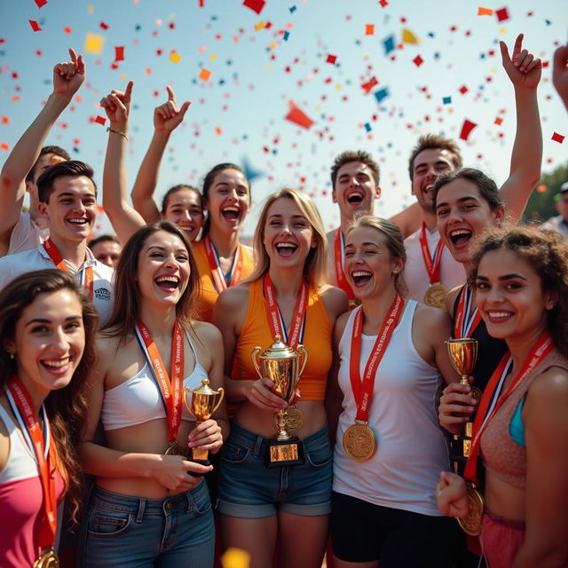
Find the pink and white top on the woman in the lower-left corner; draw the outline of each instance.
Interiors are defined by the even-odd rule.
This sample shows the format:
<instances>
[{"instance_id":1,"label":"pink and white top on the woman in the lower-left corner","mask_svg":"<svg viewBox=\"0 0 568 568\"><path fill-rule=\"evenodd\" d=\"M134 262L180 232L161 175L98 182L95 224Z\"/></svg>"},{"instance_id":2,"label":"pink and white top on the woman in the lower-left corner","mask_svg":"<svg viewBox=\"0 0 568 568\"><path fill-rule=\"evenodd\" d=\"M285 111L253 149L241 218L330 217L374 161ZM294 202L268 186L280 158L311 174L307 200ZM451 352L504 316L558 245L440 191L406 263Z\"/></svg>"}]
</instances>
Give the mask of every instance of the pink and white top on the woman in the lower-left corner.
<instances>
[{"instance_id":1,"label":"pink and white top on the woman in the lower-left corner","mask_svg":"<svg viewBox=\"0 0 568 568\"><path fill-rule=\"evenodd\" d=\"M10 438L10 451L0 470L0 564L3 568L31 566L40 554L39 533L43 520L43 490L37 462L12 417L0 405L0 420ZM55 476L58 503L65 484Z\"/></svg>"}]
</instances>

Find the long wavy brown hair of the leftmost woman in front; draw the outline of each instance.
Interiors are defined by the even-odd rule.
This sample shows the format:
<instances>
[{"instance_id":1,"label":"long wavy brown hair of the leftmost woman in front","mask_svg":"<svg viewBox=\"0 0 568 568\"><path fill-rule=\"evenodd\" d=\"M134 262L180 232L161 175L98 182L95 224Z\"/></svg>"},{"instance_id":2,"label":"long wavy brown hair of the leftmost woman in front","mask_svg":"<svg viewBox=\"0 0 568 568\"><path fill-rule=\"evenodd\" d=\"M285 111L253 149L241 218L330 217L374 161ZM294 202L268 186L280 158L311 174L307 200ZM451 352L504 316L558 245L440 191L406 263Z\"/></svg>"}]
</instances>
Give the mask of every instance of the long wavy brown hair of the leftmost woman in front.
<instances>
[{"instance_id":1,"label":"long wavy brown hair of the leftmost woman in front","mask_svg":"<svg viewBox=\"0 0 568 568\"><path fill-rule=\"evenodd\" d=\"M71 520L76 522L84 487L83 469L78 454L87 414L84 387L97 362L94 337L99 326L99 315L83 294L83 289L65 272L53 269L27 272L12 280L0 292L0 337L3 341L3 348L0 349L0 386L4 386L12 376L18 374L16 359L10 358L5 345L14 339L22 312L40 294L52 294L59 290L69 290L81 303L85 345L83 357L70 383L63 389L51 390L43 404L58 454L58 469L67 480L66 501L70 505Z\"/></svg>"}]
</instances>

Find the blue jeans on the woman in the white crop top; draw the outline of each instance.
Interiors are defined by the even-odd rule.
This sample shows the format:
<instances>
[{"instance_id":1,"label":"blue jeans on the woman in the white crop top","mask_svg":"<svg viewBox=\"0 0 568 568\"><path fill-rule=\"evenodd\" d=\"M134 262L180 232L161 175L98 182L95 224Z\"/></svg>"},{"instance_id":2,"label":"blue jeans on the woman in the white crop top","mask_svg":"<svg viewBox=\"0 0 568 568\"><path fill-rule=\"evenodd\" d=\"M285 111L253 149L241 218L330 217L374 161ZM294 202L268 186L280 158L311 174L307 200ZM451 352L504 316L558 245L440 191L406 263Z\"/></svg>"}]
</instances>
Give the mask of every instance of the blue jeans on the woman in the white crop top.
<instances>
[{"instance_id":1,"label":"blue jeans on the woman in the white crop top","mask_svg":"<svg viewBox=\"0 0 568 568\"><path fill-rule=\"evenodd\" d=\"M215 525L207 484L167 499L142 499L95 486L83 519L79 565L210 568Z\"/></svg>"}]
</instances>

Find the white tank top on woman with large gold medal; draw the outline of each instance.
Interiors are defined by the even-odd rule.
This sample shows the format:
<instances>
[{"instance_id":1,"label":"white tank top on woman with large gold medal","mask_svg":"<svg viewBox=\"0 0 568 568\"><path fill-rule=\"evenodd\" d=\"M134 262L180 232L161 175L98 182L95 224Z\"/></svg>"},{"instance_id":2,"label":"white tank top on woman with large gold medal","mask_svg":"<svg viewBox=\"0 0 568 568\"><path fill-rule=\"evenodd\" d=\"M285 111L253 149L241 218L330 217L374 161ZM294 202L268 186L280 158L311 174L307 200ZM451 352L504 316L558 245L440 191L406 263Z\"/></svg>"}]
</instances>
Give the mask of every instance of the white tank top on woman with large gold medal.
<instances>
[{"instance_id":1,"label":"white tank top on woman with large gold medal","mask_svg":"<svg viewBox=\"0 0 568 568\"><path fill-rule=\"evenodd\" d=\"M436 504L440 471L450 467L446 435L438 424L442 377L414 348L412 325L416 302L405 311L377 368L369 426L377 449L367 461L353 461L343 450L343 432L355 422L357 405L351 390L349 359L355 313L339 343L338 381L343 391L334 454L334 491L363 501L442 516ZM365 371L376 335L362 335L360 375Z\"/></svg>"}]
</instances>

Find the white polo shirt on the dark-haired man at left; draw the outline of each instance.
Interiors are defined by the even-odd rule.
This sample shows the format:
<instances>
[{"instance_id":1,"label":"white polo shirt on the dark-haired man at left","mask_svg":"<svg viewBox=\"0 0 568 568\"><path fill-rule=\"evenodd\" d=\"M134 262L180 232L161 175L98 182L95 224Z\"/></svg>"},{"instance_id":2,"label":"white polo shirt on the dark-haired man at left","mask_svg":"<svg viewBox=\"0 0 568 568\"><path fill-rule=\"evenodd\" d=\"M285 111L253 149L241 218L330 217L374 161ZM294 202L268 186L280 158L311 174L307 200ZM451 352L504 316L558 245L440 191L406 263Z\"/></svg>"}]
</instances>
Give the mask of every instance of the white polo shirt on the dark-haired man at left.
<instances>
[{"instance_id":1,"label":"white polo shirt on the dark-haired man at left","mask_svg":"<svg viewBox=\"0 0 568 568\"><path fill-rule=\"evenodd\" d=\"M99 261L91 253L91 249L87 248L87 259L81 265L78 271L65 261L69 272L75 275L79 280L81 272L85 268L92 266L93 272L93 294L92 303L97 308L100 318L100 327L110 318L114 304L114 285L113 275L114 270L106 264L99 263ZM46 268L56 268L50 256L43 248L43 245L34 248L33 250L26 250L16 255L4 256L0 258L0 290L4 288L20 274L26 272L33 272L36 270L43 270Z\"/></svg>"}]
</instances>

